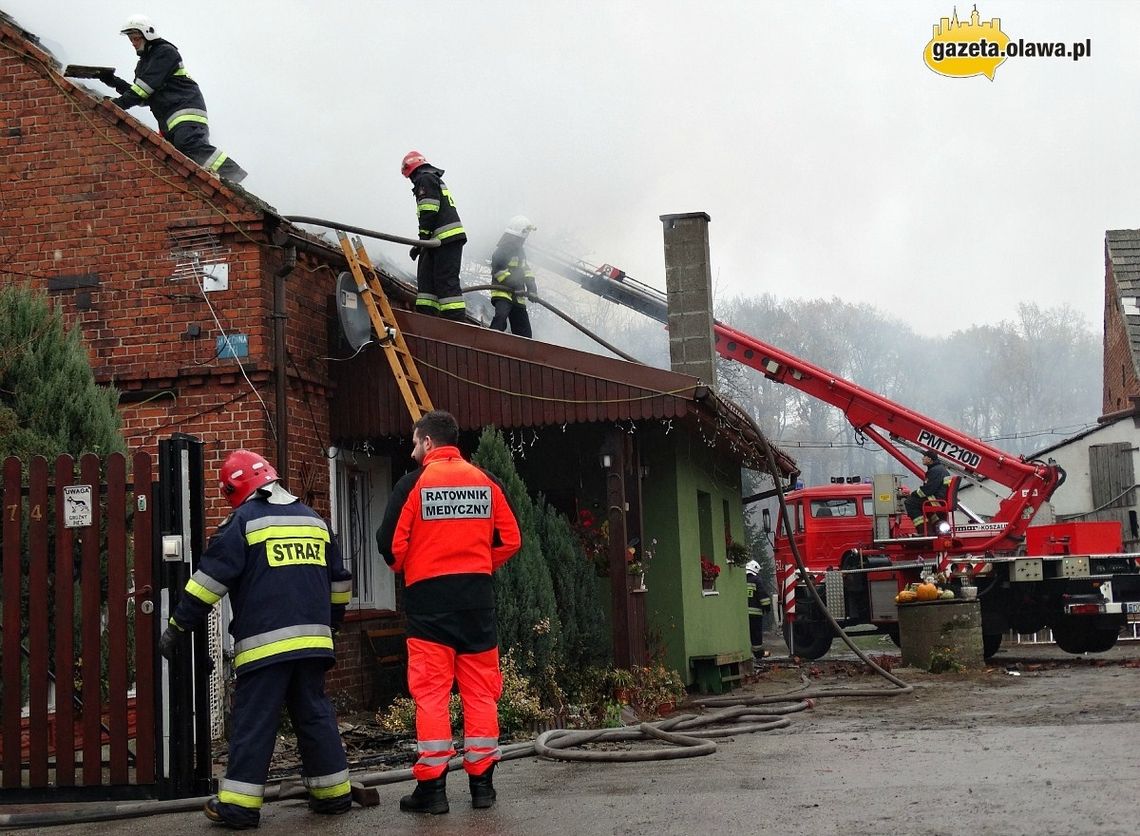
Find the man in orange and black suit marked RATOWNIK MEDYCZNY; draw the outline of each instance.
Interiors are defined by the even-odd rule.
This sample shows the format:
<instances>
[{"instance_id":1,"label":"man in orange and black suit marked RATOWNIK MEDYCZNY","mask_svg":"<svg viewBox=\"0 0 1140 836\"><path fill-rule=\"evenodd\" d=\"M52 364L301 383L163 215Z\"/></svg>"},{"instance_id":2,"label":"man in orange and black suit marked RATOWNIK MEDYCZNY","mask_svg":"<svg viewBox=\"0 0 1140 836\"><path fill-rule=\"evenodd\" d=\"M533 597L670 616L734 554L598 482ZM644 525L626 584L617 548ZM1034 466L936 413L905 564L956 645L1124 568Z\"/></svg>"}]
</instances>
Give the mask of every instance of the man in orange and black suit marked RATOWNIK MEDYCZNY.
<instances>
[{"instance_id":1,"label":"man in orange and black suit marked RATOWNIK MEDYCZNY","mask_svg":"<svg viewBox=\"0 0 1140 836\"><path fill-rule=\"evenodd\" d=\"M392 488L376 531L380 553L404 574L408 617L408 690L416 704L416 788L400 810L446 813L447 762L455 756L448 700L463 700L463 769L471 806L495 803L491 777L503 690L491 573L521 545L519 522L503 486L465 462L455 417L435 409L412 439L420 468Z\"/></svg>"}]
</instances>

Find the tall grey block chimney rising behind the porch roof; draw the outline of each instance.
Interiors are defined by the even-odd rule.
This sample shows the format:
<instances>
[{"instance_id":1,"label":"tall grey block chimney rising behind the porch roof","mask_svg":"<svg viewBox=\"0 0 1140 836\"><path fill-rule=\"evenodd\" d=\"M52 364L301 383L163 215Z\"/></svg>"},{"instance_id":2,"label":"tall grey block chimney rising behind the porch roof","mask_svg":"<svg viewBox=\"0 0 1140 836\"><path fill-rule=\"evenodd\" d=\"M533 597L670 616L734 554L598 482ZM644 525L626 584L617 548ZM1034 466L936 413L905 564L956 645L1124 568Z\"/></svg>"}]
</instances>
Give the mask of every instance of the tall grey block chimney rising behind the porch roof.
<instances>
[{"instance_id":1,"label":"tall grey block chimney rising behind the porch roof","mask_svg":"<svg viewBox=\"0 0 1140 836\"><path fill-rule=\"evenodd\" d=\"M662 214L665 289L669 305L669 365L674 372L716 387L712 348L712 273L709 217L705 212Z\"/></svg>"}]
</instances>

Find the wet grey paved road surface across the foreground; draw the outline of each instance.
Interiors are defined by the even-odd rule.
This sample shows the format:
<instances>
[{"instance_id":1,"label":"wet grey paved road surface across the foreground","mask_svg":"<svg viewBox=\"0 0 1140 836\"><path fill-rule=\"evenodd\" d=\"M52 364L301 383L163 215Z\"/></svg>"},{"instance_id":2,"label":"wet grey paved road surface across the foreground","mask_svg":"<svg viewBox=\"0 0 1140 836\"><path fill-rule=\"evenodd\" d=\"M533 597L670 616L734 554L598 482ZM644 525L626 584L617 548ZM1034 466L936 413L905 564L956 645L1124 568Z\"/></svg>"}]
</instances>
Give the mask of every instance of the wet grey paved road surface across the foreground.
<instances>
[{"instance_id":1,"label":"wet grey paved road surface across the foreground","mask_svg":"<svg viewBox=\"0 0 1140 836\"><path fill-rule=\"evenodd\" d=\"M773 648L775 649L775 648ZM837 654L842 657L842 654ZM451 812L399 812L409 784L380 805L328 819L303 802L267 804L261 833L336 834L993 834L1138 833L1140 642L1102 658L1003 649L970 674L895 673L914 691L824 698L788 728L722 739L712 755L629 764L524 757L499 764L499 802L470 807L450 777ZM842 660L773 665L747 693L888 688ZM201 813L52 827L49 834L218 833Z\"/></svg>"}]
</instances>

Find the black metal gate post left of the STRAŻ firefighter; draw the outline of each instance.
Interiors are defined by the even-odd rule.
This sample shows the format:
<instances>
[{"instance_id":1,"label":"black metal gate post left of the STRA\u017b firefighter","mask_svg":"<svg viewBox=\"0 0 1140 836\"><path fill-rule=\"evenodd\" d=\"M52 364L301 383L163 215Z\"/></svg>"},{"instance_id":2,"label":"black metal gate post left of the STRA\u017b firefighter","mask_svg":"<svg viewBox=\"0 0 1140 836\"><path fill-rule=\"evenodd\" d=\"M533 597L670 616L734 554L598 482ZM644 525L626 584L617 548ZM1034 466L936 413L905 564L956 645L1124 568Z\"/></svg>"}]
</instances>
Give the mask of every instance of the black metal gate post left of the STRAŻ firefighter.
<instances>
[{"instance_id":1,"label":"black metal gate post left of the STRA\u017b firefighter","mask_svg":"<svg viewBox=\"0 0 1140 836\"><path fill-rule=\"evenodd\" d=\"M205 547L205 500L202 440L181 432L158 443L158 481L155 484L157 543L154 577L160 589L165 630L186 582ZM194 631L193 643L176 650L166 663L155 652L158 766L164 797L205 795L213 789L210 741L210 651L204 630Z\"/></svg>"}]
</instances>

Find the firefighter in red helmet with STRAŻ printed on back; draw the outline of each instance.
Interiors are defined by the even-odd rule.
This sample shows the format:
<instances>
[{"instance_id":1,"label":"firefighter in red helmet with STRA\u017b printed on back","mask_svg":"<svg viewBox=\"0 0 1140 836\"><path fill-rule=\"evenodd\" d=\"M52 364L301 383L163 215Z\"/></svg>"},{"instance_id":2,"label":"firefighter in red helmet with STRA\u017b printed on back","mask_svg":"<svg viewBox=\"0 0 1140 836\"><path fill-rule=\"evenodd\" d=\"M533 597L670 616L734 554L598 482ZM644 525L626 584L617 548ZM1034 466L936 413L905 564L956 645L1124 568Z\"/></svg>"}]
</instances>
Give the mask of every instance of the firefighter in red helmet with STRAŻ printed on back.
<instances>
[{"instance_id":1,"label":"firefighter in red helmet with STRA\u017b printed on back","mask_svg":"<svg viewBox=\"0 0 1140 836\"><path fill-rule=\"evenodd\" d=\"M229 594L237 675L233 732L226 778L205 814L233 828L260 822L283 704L296 730L309 807L336 814L352 804L336 713L325 696L352 576L325 521L277 479L256 453L227 456L221 489L234 512L211 537L158 644L171 658Z\"/></svg>"}]
</instances>

